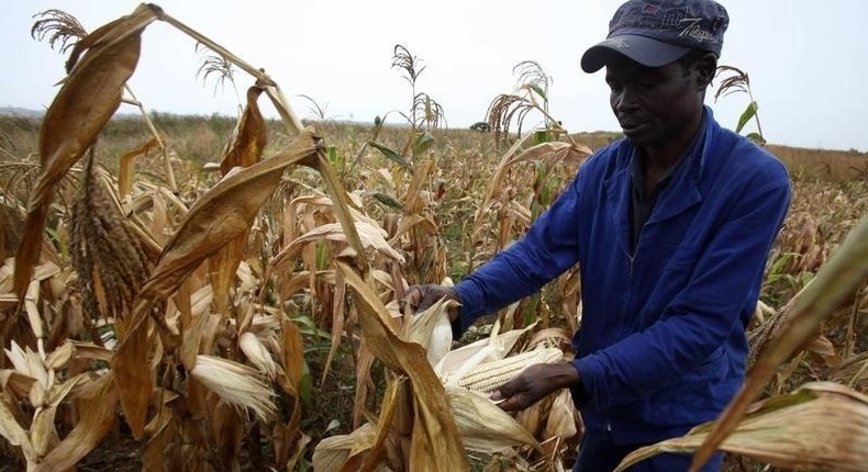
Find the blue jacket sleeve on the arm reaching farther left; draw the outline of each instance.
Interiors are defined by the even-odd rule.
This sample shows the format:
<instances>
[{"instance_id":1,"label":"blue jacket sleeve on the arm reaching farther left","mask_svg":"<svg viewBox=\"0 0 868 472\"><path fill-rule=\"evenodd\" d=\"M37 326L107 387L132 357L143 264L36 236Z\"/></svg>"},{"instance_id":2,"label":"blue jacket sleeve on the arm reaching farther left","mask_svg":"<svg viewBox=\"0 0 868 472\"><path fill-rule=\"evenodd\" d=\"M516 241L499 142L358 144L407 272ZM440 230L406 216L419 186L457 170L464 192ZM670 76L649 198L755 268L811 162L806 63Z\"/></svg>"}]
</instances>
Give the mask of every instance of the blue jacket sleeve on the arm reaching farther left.
<instances>
[{"instance_id":1,"label":"blue jacket sleeve on the arm reaching farther left","mask_svg":"<svg viewBox=\"0 0 868 472\"><path fill-rule=\"evenodd\" d=\"M464 333L479 316L493 313L539 290L579 259L578 223L581 175L557 198L519 241L455 286L461 301L459 326Z\"/></svg>"}]
</instances>

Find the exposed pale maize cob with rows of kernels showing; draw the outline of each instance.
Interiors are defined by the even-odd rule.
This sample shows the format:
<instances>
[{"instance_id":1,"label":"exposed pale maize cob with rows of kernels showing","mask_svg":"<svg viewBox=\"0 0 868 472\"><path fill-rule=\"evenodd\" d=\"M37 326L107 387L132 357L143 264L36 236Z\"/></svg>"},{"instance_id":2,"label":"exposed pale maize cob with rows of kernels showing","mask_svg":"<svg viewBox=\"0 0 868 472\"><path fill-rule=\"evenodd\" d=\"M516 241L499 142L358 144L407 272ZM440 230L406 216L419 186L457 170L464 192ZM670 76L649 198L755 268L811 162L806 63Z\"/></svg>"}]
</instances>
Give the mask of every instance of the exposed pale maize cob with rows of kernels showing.
<instances>
[{"instance_id":1,"label":"exposed pale maize cob with rows of kernels showing","mask_svg":"<svg viewBox=\"0 0 868 472\"><path fill-rule=\"evenodd\" d=\"M515 379L524 369L535 363L552 363L564 358L558 348L538 348L496 361L485 362L464 375L458 385L468 390L488 393ZM446 381L449 374L445 375ZM446 383L444 381L444 383Z\"/></svg>"}]
</instances>

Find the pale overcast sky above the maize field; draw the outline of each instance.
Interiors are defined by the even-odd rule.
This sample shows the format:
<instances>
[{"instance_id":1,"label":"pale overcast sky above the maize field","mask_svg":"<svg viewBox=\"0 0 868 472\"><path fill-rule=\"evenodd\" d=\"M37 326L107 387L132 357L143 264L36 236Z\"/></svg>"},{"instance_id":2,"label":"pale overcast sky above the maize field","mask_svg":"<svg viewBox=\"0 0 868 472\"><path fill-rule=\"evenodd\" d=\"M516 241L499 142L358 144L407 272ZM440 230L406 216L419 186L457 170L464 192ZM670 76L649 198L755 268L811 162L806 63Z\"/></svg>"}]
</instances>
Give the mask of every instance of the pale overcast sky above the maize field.
<instances>
[{"instance_id":1,"label":"pale overcast sky above the maize field","mask_svg":"<svg viewBox=\"0 0 868 472\"><path fill-rule=\"evenodd\" d=\"M868 151L868 1L722 0L731 23L720 63L748 72L770 143ZM426 66L418 90L441 103L449 127L483 121L497 94L515 86L512 68L537 61L553 77L550 111L570 132L616 131L603 72L587 75L581 54L605 37L620 0L163 0L171 16L266 69L302 117L305 94L336 120L370 122L407 110L410 89L391 69L396 44ZM31 38L33 15L74 14L93 29L132 12L133 0L0 0L0 106L45 109L65 57ZM131 87L149 110L234 114L232 86L214 91L197 70L196 44L166 23L144 34ZM236 76L238 94L253 83ZM276 116L260 100L267 115ZM734 127L746 94L706 102ZM122 111L132 112L133 109ZM390 115L397 122L396 114ZM753 126L753 125L750 125ZM748 127L750 127L748 126ZM746 131L754 131L753 128Z\"/></svg>"}]
</instances>

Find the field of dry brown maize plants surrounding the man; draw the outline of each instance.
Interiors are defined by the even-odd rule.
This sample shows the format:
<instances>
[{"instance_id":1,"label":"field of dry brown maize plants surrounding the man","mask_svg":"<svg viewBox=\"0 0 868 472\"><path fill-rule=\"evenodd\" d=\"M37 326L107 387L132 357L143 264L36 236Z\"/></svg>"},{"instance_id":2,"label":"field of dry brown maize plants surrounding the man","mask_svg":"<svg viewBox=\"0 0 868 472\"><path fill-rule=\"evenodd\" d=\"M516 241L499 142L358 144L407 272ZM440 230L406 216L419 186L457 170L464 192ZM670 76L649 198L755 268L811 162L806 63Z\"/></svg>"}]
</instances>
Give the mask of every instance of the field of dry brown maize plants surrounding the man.
<instances>
[{"instance_id":1,"label":"field of dry brown maize plants surrounding the man","mask_svg":"<svg viewBox=\"0 0 868 472\"><path fill-rule=\"evenodd\" d=\"M247 87L236 121L138 101L155 22L213 53L200 74ZM302 121L263 69L153 4L92 32L52 10L33 35L68 76L41 121L0 117L0 470L568 470L568 392L518 414L488 392L571 358L576 269L463 339L448 302L398 303L514 241L614 137L563 128L537 64L493 98L490 132L446 130L398 45L412 101L363 125ZM748 380L717 423L622 468L719 448L732 471L868 463L868 156L768 148L793 203Z\"/></svg>"}]
</instances>

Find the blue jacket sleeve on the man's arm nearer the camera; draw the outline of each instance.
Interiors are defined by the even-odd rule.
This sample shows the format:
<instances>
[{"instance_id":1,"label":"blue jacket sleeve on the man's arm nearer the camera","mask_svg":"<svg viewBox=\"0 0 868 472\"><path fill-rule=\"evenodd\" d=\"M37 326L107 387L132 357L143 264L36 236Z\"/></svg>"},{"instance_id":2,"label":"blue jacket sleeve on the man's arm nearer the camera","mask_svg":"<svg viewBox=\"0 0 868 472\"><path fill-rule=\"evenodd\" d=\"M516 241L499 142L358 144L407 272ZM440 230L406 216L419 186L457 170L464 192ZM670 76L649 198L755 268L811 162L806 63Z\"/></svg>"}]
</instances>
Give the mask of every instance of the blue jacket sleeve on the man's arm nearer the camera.
<instances>
[{"instance_id":1,"label":"blue jacket sleeve on the man's arm nearer the camera","mask_svg":"<svg viewBox=\"0 0 868 472\"><path fill-rule=\"evenodd\" d=\"M755 190L732 207L656 323L572 361L593 406L608 409L674 384L720 349L733 329L743 329L739 315L756 303L753 295L790 201L786 169L772 169L752 179L747 187Z\"/></svg>"}]
</instances>

